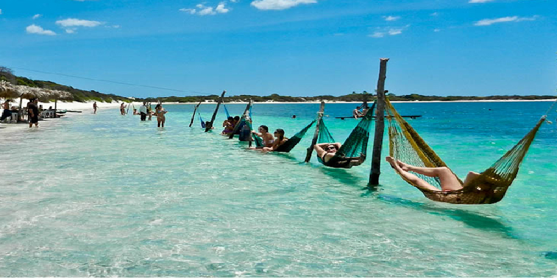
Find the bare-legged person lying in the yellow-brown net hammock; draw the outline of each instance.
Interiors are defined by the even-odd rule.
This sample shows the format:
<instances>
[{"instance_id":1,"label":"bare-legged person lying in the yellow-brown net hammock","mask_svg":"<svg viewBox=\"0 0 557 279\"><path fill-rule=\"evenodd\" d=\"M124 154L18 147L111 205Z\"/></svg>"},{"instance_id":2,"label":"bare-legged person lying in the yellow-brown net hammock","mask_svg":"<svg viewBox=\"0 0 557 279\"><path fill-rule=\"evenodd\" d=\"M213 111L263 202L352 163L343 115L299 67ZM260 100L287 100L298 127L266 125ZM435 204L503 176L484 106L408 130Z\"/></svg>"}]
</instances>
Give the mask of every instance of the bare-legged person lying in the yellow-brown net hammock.
<instances>
[{"instance_id":1,"label":"bare-legged person lying in the yellow-brown net hammock","mask_svg":"<svg viewBox=\"0 0 557 279\"><path fill-rule=\"evenodd\" d=\"M448 167L416 167L411 164L400 162L400 160L395 160L395 158L392 158L391 156L387 156L385 160L391 164L391 167L393 167L393 169L395 169L395 171L397 171L402 178L411 181L411 183L414 183L419 188L428 189L430 191L439 191L439 189L418 176L411 174L409 171L414 171L415 173L423 174L424 176L439 178L439 184L441 185L441 191L443 192L460 190L468 185L473 178L480 176L477 172L470 171L466 176L466 179L464 179L463 185L460 185L460 181Z\"/></svg>"}]
</instances>

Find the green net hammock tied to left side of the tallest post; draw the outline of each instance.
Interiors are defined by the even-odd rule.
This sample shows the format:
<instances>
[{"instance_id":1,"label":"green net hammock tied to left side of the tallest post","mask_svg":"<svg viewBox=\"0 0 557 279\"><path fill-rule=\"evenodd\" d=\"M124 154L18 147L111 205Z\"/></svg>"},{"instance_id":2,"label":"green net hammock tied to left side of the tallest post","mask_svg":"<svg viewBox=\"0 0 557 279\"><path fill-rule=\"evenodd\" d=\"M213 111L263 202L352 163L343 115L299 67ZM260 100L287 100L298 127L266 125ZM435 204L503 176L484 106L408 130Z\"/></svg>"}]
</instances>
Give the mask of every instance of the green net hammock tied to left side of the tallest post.
<instances>
[{"instance_id":1,"label":"green net hammock tied to left side of the tallest post","mask_svg":"<svg viewBox=\"0 0 557 279\"><path fill-rule=\"evenodd\" d=\"M368 140L370 138L370 128L372 122L373 109L375 102L370 110L361 118L360 123L352 133L345 140L343 146L336 151L333 158L329 162L323 162L322 158L317 155L317 160L327 167L345 168L350 169L354 166L359 166L366 160L366 153L368 151ZM317 143L334 143L336 142L333 135L329 133L329 129L325 126L323 118L319 119L319 137Z\"/></svg>"}]
</instances>

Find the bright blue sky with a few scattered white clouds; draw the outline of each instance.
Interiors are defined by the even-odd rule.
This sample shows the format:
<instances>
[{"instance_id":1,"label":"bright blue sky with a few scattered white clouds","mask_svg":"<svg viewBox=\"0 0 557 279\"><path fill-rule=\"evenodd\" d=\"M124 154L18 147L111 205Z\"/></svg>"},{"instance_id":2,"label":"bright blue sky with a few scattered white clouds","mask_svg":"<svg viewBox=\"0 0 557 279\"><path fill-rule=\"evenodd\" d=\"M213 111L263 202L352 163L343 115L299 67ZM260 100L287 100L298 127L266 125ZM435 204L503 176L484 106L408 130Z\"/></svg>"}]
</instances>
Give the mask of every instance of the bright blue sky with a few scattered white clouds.
<instances>
[{"instance_id":1,"label":"bright blue sky with a few scattered white clouds","mask_svg":"<svg viewBox=\"0 0 557 279\"><path fill-rule=\"evenodd\" d=\"M555 94L554 0L0 0L0 65L122 96ZM26 69L168 87L118 85Z\"/></svg>"}]
</instances>

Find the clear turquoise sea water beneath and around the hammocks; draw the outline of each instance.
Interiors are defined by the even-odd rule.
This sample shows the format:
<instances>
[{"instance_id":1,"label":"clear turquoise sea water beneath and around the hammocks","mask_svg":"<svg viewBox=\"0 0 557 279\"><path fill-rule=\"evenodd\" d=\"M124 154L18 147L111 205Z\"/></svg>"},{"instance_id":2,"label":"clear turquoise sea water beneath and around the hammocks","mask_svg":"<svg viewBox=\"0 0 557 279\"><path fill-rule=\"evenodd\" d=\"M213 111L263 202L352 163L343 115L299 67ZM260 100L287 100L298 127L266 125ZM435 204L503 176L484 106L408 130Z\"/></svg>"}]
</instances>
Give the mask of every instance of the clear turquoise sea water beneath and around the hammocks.
<instances>
[{"instance_id":1,"label":"clear turquoise sea water beneath and around the hammocks","mask_svg":"<svg viewBox=\"0 0 557 279\"><path fill-rule=\"evenodd\" d=\"M356 121L333 117L352 107L326 106L339 142ZM423 115L411 125L464 176L510 149L549 103L395 107ZM197 118L188 128L193 105L165 108L166 128L115 109L0 129L1 277L557 276L545 254L557 251L556 124L542 126L503 201L450 205L386 162L377 189L370 160L300 163L313 131L290 154L262 155L203 133ZM317 108L256 104L253 121L289 136ZM201 105L202 116L213 109Z\"/></svg>"}]
</instances>

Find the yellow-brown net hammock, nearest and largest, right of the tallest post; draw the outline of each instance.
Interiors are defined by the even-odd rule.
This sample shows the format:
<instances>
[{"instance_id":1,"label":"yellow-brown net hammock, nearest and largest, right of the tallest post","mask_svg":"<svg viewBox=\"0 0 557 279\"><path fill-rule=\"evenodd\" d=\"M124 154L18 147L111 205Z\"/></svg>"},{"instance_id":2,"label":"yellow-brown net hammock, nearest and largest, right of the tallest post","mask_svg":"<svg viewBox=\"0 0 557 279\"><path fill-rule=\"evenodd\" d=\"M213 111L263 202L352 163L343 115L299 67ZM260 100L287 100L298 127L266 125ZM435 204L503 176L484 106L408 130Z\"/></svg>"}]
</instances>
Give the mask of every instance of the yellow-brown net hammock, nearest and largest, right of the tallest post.
<instances>
[{"instance_id":1,"label":"yellow-brown net hammock, nearest and largest, right of the tallest post","mask_svg":"<svg viewBox=\"0 0 557 279\"><path fill-rule=\"evenodd\" d=\"M447 167L445 162L416 133L416 130L405 119L400 117L389 99L386 99L386 112L388 114L387 119L389 119L389 154L395 160L400 160L416 167ZM503 157L497 160L489 169L483 171L480 176L473 178L467 185L463 185L462 189L446 192L441 192L441 190L432 191L418 187L415 183L405 180L407 183L418 188L425 197L432 201L459 204L488 204L501 201L512 180L517 177L520 163L524 159L530 144L534 140L535 134L538 133L544 120L545 116ZM440 188L439 178L432 178L414 172L413 174L427 181L427 183ZM460 181L460 184L463 184L462 180L458 177L457 179Z\"/></svg>"}]
</instances>

